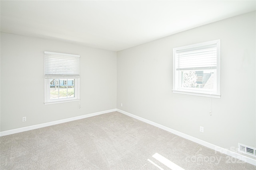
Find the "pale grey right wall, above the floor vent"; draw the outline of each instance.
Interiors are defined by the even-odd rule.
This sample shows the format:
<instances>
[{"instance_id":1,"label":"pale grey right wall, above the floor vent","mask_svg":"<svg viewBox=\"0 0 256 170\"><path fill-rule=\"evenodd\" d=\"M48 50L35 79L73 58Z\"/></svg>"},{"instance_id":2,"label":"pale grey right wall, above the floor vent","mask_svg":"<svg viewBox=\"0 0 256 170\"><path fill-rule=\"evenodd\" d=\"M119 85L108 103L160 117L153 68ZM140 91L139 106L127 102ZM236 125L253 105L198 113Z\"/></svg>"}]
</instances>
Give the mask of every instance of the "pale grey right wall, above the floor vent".
<instances>
[{"instance_id":1,"label":"pale grey right wall, above the floor vent","mask_svg":"<svg viewBox=\"0 0 256 170\"><path fill-rule=\"evenodd\" d=\"M223 148L256 147L255 30L252 12L119 51L117 108ZM222 96L210 116L210 98L172 93L172 49L216 39Z\"/></svg>"}]
</instances>

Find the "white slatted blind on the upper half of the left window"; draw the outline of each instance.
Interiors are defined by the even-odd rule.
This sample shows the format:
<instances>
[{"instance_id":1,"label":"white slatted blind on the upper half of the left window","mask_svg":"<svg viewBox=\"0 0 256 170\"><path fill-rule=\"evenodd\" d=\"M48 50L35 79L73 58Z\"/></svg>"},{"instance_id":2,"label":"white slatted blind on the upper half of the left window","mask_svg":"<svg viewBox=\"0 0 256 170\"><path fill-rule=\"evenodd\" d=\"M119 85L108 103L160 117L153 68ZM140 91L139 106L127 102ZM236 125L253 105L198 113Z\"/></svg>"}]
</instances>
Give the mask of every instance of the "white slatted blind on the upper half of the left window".
<instances>
[{"instance_id":1,"label":"white slatted blind on the upper half of the left window","mask_svg":"<svg viewBox=\"0 0 256 170\"><path fill-rule=\"evenodd\" d=\"M44 52L45 78L79 78L80 55Z\"/></svg>"}]
</instances>

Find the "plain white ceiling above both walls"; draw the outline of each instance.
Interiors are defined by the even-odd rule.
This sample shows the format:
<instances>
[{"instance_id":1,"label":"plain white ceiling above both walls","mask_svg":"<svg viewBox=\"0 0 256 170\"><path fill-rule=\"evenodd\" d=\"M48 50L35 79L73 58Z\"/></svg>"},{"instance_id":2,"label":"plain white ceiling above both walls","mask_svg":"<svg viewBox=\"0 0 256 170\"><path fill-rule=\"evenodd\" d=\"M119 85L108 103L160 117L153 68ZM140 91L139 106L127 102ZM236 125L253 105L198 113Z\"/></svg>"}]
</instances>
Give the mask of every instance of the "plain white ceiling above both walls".
<instances>
[{"instance_id":1,"label":"plain white ceiling above both walls","mask_svg":"<svg viewBox=\"0 0 256 170\"><path fill-rule=\"evenodd\" d=\"M255 0L0 3L2 32L111 51L256 10Z\"/></svg>"}]
</instances>

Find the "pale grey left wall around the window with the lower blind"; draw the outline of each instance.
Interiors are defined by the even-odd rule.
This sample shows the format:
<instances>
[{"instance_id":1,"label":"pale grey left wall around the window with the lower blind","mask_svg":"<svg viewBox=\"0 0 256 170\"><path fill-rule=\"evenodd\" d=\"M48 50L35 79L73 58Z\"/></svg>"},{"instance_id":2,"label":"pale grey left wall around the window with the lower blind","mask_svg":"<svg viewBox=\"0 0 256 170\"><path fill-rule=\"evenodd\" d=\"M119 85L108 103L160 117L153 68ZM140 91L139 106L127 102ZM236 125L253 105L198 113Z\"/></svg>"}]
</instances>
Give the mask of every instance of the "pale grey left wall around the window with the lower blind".
<instances>
[{"instance_id":1,"label":"pale grey left wall around the window with the lower blind","mask_svg":"<svg viewBox=\"0 0 256 170\"><path fill-rule=\"evenodd\" d=\"M44 51L80 55L80 109L44 105ZM1 33L1 131L115 108L116 52Z\"/></svg>"}]
</instances>

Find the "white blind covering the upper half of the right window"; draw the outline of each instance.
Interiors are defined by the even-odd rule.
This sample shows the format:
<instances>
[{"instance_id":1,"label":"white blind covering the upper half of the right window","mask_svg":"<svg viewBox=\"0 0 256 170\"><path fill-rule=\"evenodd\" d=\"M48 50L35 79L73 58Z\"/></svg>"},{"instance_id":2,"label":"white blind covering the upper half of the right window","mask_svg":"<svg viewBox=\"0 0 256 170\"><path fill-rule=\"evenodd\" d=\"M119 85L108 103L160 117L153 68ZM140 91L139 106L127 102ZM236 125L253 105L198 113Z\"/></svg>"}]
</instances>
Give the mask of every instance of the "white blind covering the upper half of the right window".
<instances>
[{"instance_id":1,"label":"white blind covering the upper half of the right window","mask_svg":"<svg viewBox=\"0 0 256 170\"><path fill-rule=\"evenodd\" d=\"M216 68L216 45L176 51L176 70L206 70Z\"/></svg>"}]
</instances>

